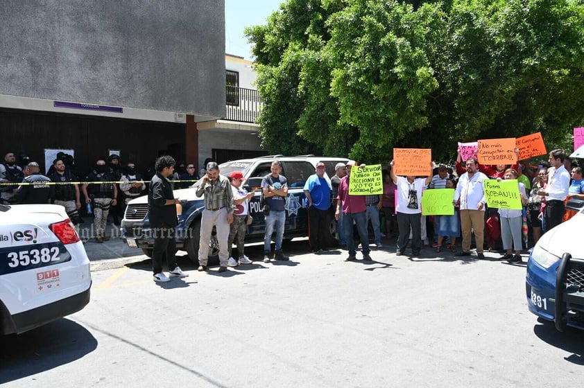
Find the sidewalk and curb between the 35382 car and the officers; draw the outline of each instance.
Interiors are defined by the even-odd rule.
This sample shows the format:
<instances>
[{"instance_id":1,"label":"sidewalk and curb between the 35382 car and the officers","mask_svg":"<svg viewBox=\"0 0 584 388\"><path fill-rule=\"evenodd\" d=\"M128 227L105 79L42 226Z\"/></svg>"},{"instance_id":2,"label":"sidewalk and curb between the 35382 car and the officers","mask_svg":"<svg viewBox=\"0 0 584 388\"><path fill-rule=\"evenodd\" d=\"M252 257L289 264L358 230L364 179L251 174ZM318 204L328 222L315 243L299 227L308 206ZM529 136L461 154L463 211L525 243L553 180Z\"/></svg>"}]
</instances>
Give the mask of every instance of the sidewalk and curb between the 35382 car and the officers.
<instances>
[{"instance_id":1,"label":"sidewalk and curb between the 35382 car and the officers","mask_svg":"<svg viewBox=\"0 0 584 388\"><path fill-rule=\"evenodd\" d=\"M141 249L130 248L121 238L119 227L108 222L105 235L109 241L95 242L93 218L83 217L83 224L78 224L78 233L84 241L85 252L91 262L92 271L107 270L122 267L128 263L135 263L148 259Z\"/></svg>"}]
</instances>

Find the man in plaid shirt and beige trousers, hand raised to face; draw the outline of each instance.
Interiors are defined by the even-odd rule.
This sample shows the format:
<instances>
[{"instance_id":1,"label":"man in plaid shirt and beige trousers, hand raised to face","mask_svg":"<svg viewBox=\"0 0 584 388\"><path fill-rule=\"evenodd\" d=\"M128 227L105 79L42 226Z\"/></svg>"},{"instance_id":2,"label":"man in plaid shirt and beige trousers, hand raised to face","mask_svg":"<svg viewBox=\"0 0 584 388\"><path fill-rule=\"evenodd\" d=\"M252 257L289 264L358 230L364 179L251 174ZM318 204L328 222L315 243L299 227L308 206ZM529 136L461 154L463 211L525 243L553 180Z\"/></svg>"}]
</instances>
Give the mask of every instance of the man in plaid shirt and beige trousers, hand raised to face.
<instances>
[{"instance_id":1,"label":"man in plaid shirt and beige trousers, hand raised to face","mask_svg":"<svg viewBox=\"0 0 584 388\"><path fill-rule=\"evenodd\" d=\"M196 195L205 196L205 210L200 220L199 271L207 270L209 240L213 227L219 243L219 271L227 271L229 261L230 224L233 222L233 191L227 177L219 174L219 166L214 161L207 164L207 173L196 183Z\"/></svg>"}]
</instances>

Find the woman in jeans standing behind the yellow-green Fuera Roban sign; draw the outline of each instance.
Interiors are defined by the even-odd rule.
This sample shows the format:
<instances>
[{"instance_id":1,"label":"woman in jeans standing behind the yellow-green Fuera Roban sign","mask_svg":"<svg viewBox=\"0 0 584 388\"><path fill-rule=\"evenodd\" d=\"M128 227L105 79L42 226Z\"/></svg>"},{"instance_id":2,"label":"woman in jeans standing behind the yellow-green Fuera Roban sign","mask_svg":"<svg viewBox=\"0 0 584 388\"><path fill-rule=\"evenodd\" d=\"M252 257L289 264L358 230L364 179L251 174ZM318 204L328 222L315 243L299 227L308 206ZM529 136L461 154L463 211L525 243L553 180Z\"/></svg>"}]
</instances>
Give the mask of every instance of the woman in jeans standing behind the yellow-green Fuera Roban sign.
<instances>
[{"instance_id":1,"label":"woman in jeans standing behind the yellow-green Fuera Roban sign","mask_svg":"<svg viewBox=\"0 0 584 388\"><path fill-rule=\"evenodd\" d=\"M517 180L517 170L508 168L505 171L505 179ZM499 178L497 181L503 179ZM517 182L519 186L519 197L521 203L527 204L527 196L525 186L521 182ZM501 238L503 239L503 249L506 249L506 254L501 256L499 260L506 260L508 263L521 263L521 248L522 248L522 211L520 209L499 209L499 217L501 217ZM511 253L512 245L515 247L515 256Z\"/></svg>"}]
</instances>

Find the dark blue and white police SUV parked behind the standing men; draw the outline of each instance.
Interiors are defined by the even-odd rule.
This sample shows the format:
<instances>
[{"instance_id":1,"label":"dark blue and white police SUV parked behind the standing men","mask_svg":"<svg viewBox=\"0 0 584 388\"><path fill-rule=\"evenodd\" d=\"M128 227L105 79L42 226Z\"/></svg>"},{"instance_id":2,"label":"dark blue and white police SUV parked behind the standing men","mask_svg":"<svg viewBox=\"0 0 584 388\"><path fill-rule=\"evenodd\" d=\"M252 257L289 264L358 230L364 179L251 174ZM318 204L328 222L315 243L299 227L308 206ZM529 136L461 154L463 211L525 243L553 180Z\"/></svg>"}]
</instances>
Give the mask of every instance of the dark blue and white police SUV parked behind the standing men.
<instances>
[{"instance_id":1,"label":"dark blue and white police SUV parked behind the standing men","mask_svg":"<svg viewBox=\"0 0 584 388\"><path fill-rule=\"evenodd\" d=\"M250 200L249 209L253 222L248 225L246 242L253 243L264 240L266 225L264 213L259 204L261 179L270 173L270 166L272 161L275 160L282 163L281 174L286 177L289 188L288 196L286 197L285 240L308 236L307 209L302 188L307 178L315 173L316 164L319 161L325 163L327 170L325 177L329 179L329 176L334 175L334 166L337 163L346 163L348 161L346 158L315 157L314 155L297 157L272 155L255 159L228 161L221 164L219 170L222 175L229 176L232 171L241 171L243 177L246 178L244 188L255 192L255 196ZM195 188L192 188L192 186L191 188L175 190L174 196L181 200L181 203L176 205L178 210L177 248L186 251L191 261L198 263L200 217L205 208L203 198L195 194ZM129 247L141 248L144 254L152 257L154 239L148 222L147 195L136 198L128 204L126 214L121 222L121 232ZM336 223L334 222L333 211L329 215L327 240L331 246L336 244ZM209 257L213 258L218 254L218 243L215 236L212 236L209 246L212 248L209 252Z\"/></svg>"}]
</instances>

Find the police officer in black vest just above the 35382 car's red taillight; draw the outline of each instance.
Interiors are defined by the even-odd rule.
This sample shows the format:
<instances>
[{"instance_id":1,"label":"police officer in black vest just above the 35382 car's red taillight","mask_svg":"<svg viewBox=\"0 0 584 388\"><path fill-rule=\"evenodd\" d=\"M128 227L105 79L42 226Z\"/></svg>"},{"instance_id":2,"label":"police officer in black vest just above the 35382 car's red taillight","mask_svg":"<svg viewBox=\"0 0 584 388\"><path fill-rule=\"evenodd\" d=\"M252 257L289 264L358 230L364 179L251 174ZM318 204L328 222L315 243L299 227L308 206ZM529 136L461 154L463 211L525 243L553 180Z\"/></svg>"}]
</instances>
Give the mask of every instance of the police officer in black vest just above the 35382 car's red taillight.
<instances>
[{"instance_id":1,"label":"police officer in black vest just above the 35382 car's red taillight","mask_svg":"<svg viewBox=\"0 0 584 388\"><path fill-rule=\"evenodd\" d=\"M53 168L55 172L49 175L51 182L50 197L55 205L61 205L67 211L69 219L74 225L80 221L79 209L81 208L81 200L79 195L78 184L72 184L76 180L65 166L65 161L62 159L55 159L53 161Z\"/></svg>"}]
</instances>

